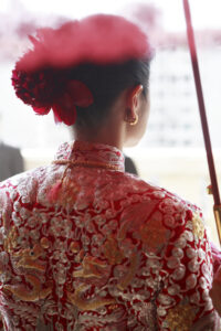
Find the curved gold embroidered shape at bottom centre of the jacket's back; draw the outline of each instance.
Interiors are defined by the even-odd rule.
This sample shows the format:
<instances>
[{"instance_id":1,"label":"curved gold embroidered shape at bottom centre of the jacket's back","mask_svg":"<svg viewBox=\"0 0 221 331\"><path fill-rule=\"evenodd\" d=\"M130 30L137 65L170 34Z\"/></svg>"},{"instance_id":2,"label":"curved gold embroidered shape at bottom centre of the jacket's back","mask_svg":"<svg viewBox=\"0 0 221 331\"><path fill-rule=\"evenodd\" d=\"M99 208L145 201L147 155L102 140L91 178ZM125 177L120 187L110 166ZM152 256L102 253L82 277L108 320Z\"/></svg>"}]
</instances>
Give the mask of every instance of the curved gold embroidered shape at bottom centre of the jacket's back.
<instances>
[{"instance_id":1,"label":"curved gold embroidered shape at bottom centre of the jacket's back","mask_svg":"<svg viewBox=\"0 0 221 331\"><path fill-rule=\"evenodd\" d=\"M72 305L76 306L80 310L96 310L106 305L114 305L115 299L105 299L105 298L95 298L95 299L86 299L85 293L90 288L90 285L81 285L74 293L67 292L67 298L72 302Z\"/></svg>"}]
</instances>

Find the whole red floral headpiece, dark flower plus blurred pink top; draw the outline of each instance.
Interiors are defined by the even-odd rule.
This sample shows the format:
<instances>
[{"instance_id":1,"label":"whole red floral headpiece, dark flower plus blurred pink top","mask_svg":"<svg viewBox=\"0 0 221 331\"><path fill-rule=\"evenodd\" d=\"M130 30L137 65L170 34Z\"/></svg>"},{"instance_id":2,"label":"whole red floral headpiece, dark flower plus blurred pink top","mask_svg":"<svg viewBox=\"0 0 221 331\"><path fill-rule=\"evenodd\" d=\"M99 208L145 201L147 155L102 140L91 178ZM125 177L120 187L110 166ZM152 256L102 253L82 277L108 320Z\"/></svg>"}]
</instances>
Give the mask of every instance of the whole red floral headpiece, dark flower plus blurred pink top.
<instances>
[{"instance_id":1,"label":"whole red floral headpiece, dark flower plus blurred pink top","mask_svg":"<svg viewBox=\"0 0 221 331\"><path fill-rule=\"evenodd\" d=\"M76 106L93 103L90 89L70 81L67 72L81 63L109 64L133 58L150 58L147 36L122 17L97 14L64 23L59 29L38 30L29 50L15 65L15 94L39 115L52 108L55 121L73 125Z\"/></svg>"}]
</instances>

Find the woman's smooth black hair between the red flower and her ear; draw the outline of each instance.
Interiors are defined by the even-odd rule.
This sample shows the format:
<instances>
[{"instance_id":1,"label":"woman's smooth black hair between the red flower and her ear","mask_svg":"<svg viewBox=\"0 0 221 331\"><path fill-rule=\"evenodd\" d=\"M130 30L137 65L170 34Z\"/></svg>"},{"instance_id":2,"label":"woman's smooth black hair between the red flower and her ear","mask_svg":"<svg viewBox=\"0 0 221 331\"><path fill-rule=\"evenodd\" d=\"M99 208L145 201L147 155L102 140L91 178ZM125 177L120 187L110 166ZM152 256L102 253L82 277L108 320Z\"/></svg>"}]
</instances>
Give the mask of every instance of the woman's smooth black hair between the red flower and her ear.
<instances>
[{"instance_id":1,"label":"woman's smooth black hair between the red flower and her ear","mask_svg":"<svg viewBox=\"0 0 221 331\"><path fill-rule=\"evenodd\" d=\"M94 103L87 108L77 107L75 126L96 128L108 114L119 94L139 84L144 86L144 97L149 85L150 60L130 60L118 64L81 64L70 71L71 79L83 82L92 92Z\"/></svg>"}]
</instances>

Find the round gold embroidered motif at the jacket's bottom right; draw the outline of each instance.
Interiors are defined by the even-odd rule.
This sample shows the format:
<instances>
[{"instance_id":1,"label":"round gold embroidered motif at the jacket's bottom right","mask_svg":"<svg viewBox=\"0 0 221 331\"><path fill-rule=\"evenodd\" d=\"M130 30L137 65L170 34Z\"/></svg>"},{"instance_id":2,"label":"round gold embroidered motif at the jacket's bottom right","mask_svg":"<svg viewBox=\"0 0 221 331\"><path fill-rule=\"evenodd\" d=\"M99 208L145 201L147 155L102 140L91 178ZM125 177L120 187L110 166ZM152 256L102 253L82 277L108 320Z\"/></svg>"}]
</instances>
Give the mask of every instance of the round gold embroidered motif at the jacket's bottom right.
<instances>
[{"instance_id":1,"label":"round gold embroidered motif at the jacket's bottom right","mask_svg":"<svg viewBox=\"0 0 221 331\"><path fill-rule=\"evenodd\" d=\"M194 317L193 307L185 303L170 309L166 321L171 331L189 331Z\"/></svg>"}]
</instances>

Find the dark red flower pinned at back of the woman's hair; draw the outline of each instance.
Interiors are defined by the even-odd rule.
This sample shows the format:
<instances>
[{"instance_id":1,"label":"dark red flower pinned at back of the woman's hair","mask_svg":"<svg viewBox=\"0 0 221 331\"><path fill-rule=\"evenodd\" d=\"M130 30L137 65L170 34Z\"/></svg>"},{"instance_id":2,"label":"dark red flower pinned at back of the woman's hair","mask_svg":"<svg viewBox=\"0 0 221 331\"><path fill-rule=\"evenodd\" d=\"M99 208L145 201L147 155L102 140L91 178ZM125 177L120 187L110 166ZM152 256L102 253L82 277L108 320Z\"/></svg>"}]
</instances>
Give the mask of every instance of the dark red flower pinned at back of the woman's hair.
<instances>
[{"instance_id":1,"label":"dark red flower pinned at back of the woman's hair","mask_svg":"<svg viewBox=\"0 0 221 331\"><path fill-rule=\"evenodd\" d=\"M14 70L12 85L17 96L38 115L46 115L52 108L55 122L67 126L76 120L76 106L84 108L93 104L93 95L84 83L67 81L53 70L34 73Z\"/></svg>"}]
</instances>

